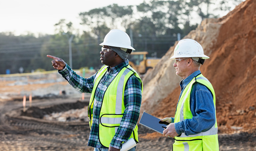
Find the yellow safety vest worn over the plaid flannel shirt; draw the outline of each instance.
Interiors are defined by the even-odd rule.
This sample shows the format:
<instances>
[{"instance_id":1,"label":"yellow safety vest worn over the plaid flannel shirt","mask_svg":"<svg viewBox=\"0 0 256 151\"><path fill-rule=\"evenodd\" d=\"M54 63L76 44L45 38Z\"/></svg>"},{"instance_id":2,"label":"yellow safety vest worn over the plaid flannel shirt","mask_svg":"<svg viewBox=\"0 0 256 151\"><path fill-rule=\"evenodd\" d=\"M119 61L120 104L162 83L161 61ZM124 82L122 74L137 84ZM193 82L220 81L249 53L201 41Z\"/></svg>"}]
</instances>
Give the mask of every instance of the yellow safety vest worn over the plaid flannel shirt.
<instances>
[{"instance_id":1,"label":"yellow safety vest worn over the plaid flannel shirt","mask_svg":"<svg viewBox=\"0 0 256 151\"><path fill-rule=\"evenodd\" d=\"M93 100L94 93L98 87L98 84L101 78L107 72L107 66L104 66L98 71L96 78L94 79L94 87L91 92L91 99L88 106L88 115L90 120L90 128L92 125L92 117L93 117ZM100 119L99 119L99 141L101 145L105 147L110 146L110 142L112 141L115 133L118 130L120 122L123 117L123 113L125 110L124 105L124 89L128 79L135 74L136 77L141 81L142 80L138 76L137 72L128 65L124 67L121 71L119 71L118 75L114 78L114 80L110 83L107 90L105 91L104 98L101 105ZM135 126L133 133L130 138L133 138L136 142L138 142L138 126ZM129 139L130 139L129 138Z\"/></svg>"}]
</instances>

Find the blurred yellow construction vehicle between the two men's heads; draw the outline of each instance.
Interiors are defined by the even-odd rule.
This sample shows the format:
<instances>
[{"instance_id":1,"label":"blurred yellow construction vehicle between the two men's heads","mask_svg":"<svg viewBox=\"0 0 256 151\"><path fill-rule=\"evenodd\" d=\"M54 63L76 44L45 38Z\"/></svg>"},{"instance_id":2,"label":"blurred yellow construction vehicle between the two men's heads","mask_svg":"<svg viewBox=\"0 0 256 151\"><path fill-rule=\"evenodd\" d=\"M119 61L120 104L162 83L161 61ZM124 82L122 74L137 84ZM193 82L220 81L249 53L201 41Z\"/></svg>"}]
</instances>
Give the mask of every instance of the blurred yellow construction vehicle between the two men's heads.
<instances>
[{"instance_id":1,"label":"blurred yellow construction vehicle between the two men's heads","mask_svg":"<svg viewBox=\"0 0 256 151\"><path fill-rule=\"evenodd\" d=\"M132 52L128 55L130 66L139 74L144 74L147 70L154 68L160 60L160 58L155 57L146 58L146 54L148 54L148 52Z\"/></svg>"}]
</instances>

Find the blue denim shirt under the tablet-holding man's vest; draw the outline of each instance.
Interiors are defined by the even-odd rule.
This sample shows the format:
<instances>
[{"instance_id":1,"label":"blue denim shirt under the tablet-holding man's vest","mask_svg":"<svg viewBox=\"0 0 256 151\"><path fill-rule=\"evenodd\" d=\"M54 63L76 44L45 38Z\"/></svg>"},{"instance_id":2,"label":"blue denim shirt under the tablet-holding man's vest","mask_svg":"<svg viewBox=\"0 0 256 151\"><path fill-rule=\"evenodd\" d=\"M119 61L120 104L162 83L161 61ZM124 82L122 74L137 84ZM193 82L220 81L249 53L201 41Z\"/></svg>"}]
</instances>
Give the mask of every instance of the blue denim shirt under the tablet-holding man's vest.
<instances>
[{"instance_id":1,"label":"blue denim shirt under the tablet-holding man's vest","mask_svg":"<svg viewBox=\"0 0 256 151\"><path fill-rule=\"evenodd\" d=\"M201 71L195 71L186 79L181 80L181 94L189 82L201 74ZM180 99L179 99L180 100ZM211 91L201 83L194 83L190 95L190 110L192 112L192 119L185 119L181 122L175 123L175 130L178 134L185 133L185 135L192 135L208 131L215 124L215 106L213 103L213 96ZM172 122L174 118L172 117Z\"/></svg>"}]
</instances>

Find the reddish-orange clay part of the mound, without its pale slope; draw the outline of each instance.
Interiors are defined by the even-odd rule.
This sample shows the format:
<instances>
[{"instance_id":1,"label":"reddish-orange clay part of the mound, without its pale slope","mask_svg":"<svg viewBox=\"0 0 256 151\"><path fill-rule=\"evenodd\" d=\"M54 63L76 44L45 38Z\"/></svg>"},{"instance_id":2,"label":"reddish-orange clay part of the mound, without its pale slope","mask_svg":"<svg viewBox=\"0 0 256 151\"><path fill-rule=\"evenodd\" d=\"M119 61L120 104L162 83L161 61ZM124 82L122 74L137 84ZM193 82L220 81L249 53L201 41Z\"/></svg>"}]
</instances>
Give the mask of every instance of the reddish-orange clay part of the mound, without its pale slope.
<instances>
[{"instance_id":1,"label":"reddish-orange clay part of the mound, without its pale slope","mask_svg":"<svg viewBox=\"0 0 256 151\"><path fill-rule=\"evenodd\" d=\"M201 72L215 89L220 133L255 133L256 0L242 2L218 23L219 36ZM179 94L177 87L153 115L174 117Z\"/></svg>"}]
</instances>

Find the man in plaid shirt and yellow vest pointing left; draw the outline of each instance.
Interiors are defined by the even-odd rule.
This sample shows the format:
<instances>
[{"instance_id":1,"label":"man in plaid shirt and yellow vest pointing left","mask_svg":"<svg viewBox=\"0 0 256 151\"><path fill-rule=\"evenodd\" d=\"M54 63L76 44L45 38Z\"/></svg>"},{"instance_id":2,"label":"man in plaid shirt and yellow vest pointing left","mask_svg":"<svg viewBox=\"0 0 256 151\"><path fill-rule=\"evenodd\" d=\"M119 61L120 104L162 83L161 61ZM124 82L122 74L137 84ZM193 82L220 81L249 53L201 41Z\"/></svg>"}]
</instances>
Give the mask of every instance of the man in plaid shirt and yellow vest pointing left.
<instances>
[{"instance_id":1,"label":"man in plaid shirt and yellow vest pointing left","mask_svg":"<svg viewBox=\"0 0 256 151\"><path fill-rule=\"evenodd\" d=\"M77 75L58 57L47 57L54 59L53 67L73 88L91 93L88 146L94 147L94 151L120 151L123 142L138 142L142 80L126 59L135 49L125 32L110 30L100 45L100 60L105 66L90 78ZM135 149L132 147L129 151Z\"/></svg>"}]
</instances>

